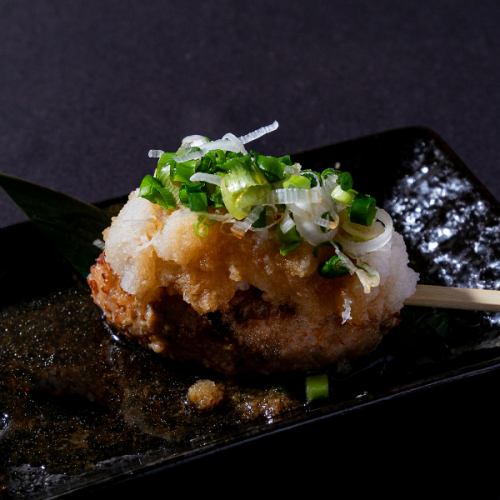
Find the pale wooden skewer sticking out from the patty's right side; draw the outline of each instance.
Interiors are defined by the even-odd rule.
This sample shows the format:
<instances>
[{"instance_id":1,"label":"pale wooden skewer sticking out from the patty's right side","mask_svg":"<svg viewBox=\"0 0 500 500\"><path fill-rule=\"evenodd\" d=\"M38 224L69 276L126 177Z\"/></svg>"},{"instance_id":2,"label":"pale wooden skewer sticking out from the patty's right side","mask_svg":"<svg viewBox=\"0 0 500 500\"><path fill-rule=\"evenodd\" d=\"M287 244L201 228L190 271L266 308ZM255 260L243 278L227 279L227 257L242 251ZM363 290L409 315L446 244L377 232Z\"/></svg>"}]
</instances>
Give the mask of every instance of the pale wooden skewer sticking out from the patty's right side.
<instances>
[{"instance_id":1,"label":"pale wooden skewer sticking out from the patty's right side","mask_svg":"<svg viewBox=\"0 0 500 500\"><path fill-rule=\"evenodd\" d=\"M406 299L405 304L446 309L500 311L500 290L417 285L417 291Z\"/></svg>"}]
</instances>

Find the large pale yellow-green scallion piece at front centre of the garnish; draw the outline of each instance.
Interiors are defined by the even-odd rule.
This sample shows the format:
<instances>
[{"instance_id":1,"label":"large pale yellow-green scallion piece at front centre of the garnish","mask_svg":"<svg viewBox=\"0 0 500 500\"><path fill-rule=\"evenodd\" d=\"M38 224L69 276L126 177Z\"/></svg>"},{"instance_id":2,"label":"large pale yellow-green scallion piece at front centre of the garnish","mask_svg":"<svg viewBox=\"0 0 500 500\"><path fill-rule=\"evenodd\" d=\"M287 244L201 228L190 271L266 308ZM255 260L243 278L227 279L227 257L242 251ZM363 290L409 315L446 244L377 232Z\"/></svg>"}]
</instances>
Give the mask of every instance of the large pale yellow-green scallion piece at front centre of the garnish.
<instances>
[{"instance_id":1,"label":"large pale yellow-green scallion piece at front centre of the garnish","mask_svg":"<svg viewBox=\"0 0 500 500\"><path fill-rule=\"evenodd\" d=\"M229 172L222 177L222 200L227 211L242 220L254 206L266 201L271 186L264 174L243 157L229 160L225 167Z\"/></svg>"}]
</instances>

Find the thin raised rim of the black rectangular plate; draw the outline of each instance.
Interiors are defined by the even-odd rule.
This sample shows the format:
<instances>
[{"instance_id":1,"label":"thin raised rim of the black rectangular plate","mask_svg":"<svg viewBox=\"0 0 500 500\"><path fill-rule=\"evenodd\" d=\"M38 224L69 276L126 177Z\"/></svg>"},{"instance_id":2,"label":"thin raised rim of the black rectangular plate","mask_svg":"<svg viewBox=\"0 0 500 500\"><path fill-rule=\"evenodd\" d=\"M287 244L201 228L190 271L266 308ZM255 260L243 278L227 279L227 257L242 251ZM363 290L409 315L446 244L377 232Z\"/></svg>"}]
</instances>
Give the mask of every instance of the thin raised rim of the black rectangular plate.
<instances>
[{"instance_id":1,"label":"thin raised rim of the black rectangular plate","mask_svg":"<svg viewBox=\"0 0 500 500\"><path fill-rule=\"evenodd\" d=\"M394 137L394 140L397 140L398 136L406 136L408 134L413 134L416 137L421 137L423 139L433 140L436 145L439 146L440 149L446 152L447 156L451 158L454 167L460 171L461 174L464 175L471 183L474 185L474 188L480 191L481 196L487 199L494 206L500 207L500 203L495 199L495 197L488 191L488 189L482 184L477 177L466 167L465 163L462 159L454 152L454 150L445 142L443 138L441 138L436 132L432 129L424 126L411 126L404 128L396 128L376 134L370 134L367 136L350 139L348 141L343 141L341 143L321 146L317 148L313 148L310 150L301 151L296 153L293 158L296 161L301 161L303 157L310 157L311 155L325 156L329 155L330 150L338 149L343 146L347 146L349 144L362 141L362 140L378 140L383 137ZM98 206L105 207L110 206L115 203L123 203L126 197L118 197L111 200L102 201L96 203ZM33 225L30 222L21 222L11 226L0 228L0 238L9 238L15 241L16 235L21 234L23 232L32 232L33 235L36 234ZM272 424L268 429L262 430L259 428L258 430L247 431L246 433L242 433L239 435L235 435L233 439L229 442L226 441L224 443L214 442L205 447L187 451L176 458L164 459L160 460L157 463L141 467L138 469L134 469L131 471L124 471L119 474L113 474L107 478L102 478L98 480L90 480L90 482L86 485L75 485L73 488L69 488L62 494L57 494L55 497L71 495L71 494L91 494L92 492L99 492L103 488L113 487L113 486L121 486L125 485L131 480L140 479L140 478L148 478L153 475L162 474L172 468L175 468L179 465L186 464L188 462L207 458L211 455L217 454L219 452L223 452L226 450L230 450L233 448L237 448L240 446L244 446L246 444L259 441L260 439L264 439L276 434L283 433L284 431L290 431L292 429L297 428L307 428L314 424L318 424L319 422L328 422L335 418L351 414L355 411L362 411L364 409L381 405L385 402L398 400L402 398L408 398L417 394L428 393L440 387L450 386L452 384L458 384L468 379L476 379L483 377L485 375L499 372L500 371L500 357L496 357L487 361L483 361L480 363L466 365L460 369L455 369L449 372L445 372L434 377L429 377L428 379L419 380L413 384L409 384L407 386L403 386L402 388L398 388L397 392L392 392L389 394L375 396L369 400L355 400L350 401L343 408L337 408L332 411L331 408L327 406L318 407L312 409L305 415L301 417L295 417L288 419L285 422Z\"/></svg>"}]
</instances>

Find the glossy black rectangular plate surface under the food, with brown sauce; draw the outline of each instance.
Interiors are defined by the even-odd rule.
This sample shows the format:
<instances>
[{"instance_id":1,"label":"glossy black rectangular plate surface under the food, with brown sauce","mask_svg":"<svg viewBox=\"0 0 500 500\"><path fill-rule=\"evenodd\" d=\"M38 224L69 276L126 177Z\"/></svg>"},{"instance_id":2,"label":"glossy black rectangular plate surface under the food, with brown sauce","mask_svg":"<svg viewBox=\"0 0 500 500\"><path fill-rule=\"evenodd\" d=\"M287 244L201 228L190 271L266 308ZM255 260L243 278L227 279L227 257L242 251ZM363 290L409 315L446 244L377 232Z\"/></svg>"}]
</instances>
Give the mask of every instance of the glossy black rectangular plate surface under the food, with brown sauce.
<instances>
[{"instance_id":1,"label":"glossy black rectangular plate surface under the food, with brown sauce","mask_svg":"<svg viewBox=\"0 0 500 500\"><path fill-rule=\"evenodd\" d=\"M433 132L396 130L295 159L339 161L383 200L422 281L500 289L499 204ZM14 496L114 482L500 368L500 314L406 308L375 353L331 373L330 401L304 406L295 377L225 381L225 406L199 415L184 403L199 370L107 331L86 287L36 238L27 224L0 232L9 284L0 290L0 485Z\"/></svg>"}]
</instances>

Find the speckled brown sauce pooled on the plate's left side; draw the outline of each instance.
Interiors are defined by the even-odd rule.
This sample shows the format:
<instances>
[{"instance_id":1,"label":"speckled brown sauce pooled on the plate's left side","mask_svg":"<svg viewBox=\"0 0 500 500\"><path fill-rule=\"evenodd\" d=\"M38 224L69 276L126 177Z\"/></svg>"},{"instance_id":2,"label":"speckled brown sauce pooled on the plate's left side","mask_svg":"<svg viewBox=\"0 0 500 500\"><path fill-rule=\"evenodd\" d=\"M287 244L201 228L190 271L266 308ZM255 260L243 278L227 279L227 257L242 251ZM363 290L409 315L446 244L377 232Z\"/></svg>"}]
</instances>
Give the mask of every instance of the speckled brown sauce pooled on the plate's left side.
<instances>
[{"instance_id":1,"label":"speckled brown sauce pooled on the plate's left side","mask_svg":"<svg viewBox=\"0 0 500 500\"><path fill-rule=\"evenodd\" d=\"M83 284L4 308L0 471L9 471L9 490L33 494L38 483L62 485L110 460L116 470L116 457L130 467L155 453L178 455L303 407L272 381L220 380L223 403L200 412L186 401L200 376L217 380L118 338Z\"/></svg>"}]
</instances>

